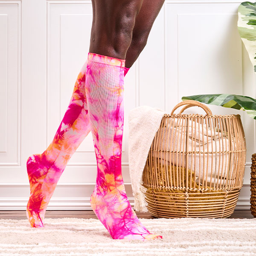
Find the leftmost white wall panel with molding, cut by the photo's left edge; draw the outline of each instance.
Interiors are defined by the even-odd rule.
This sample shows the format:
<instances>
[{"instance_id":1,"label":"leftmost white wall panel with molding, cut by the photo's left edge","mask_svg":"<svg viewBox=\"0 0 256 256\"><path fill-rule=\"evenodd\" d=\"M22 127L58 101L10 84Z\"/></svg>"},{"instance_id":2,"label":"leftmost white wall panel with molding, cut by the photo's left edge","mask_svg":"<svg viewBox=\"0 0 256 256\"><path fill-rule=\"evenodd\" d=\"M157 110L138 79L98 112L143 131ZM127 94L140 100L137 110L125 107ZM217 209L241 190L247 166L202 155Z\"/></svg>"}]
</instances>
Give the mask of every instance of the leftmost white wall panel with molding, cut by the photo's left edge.
<instances>
[{"instance_id":1,"label":"leftmost white wall panel with molding, cut by the photo's left edge","mask_svg":"<svg viewBox=\"0 0 256 256\"><path fill-rule=\"evenodd\" d=\"M21 1L0 1L0 168L21 161Z\"/></svg>"}]
</instances>

